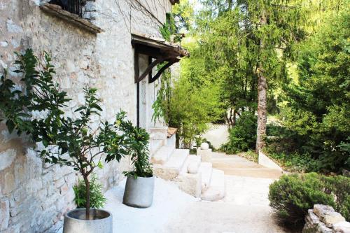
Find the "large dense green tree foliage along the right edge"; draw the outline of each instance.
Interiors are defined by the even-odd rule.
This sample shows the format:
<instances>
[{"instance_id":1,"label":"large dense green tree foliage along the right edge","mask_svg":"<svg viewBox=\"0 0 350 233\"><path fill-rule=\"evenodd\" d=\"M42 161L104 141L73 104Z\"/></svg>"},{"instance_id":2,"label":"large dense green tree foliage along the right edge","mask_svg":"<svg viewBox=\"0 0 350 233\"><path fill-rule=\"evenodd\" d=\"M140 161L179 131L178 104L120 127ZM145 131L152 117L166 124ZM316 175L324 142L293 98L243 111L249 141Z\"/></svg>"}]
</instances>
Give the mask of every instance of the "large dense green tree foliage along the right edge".
<instances>
[{"instance_id":1,"label":"large dense green tree foliage along the right edge","mask_svg":"<svg viewBox=\"0 0 350 233\"><path fill-rule=\"evenodd\" d=\"M328 18L300 45L297 82L283 87L279 138L294 146L284 152L311 155L323 172L350 169L349 24L348 10Z\"/></svg>"}]
</instances>

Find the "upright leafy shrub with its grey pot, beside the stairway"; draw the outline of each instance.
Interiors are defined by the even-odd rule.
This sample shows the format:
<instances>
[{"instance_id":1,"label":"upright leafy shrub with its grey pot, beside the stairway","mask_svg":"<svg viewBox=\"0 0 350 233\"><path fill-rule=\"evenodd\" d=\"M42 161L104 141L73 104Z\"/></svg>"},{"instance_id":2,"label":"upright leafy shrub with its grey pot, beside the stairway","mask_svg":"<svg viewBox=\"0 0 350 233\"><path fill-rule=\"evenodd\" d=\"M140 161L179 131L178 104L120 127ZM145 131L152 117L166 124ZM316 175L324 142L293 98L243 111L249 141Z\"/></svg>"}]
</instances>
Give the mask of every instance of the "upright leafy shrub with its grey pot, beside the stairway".
<instances>
[{"instance_id":1,"label":"upright leafy shrub with its grey pot, beside the stairway","mask_svg":"<svg viewBox=\"0 0 350 233\"><path fill-rule=\"evenodd\" d=\"M127 176L123 204L147 208L153 203L155 182L148 150L150 136L146 129L134 127L130 121L121 122L120 129L127 135L129 155L134 165L132 171L123 172Z\"/></svg>"}]
</instances>

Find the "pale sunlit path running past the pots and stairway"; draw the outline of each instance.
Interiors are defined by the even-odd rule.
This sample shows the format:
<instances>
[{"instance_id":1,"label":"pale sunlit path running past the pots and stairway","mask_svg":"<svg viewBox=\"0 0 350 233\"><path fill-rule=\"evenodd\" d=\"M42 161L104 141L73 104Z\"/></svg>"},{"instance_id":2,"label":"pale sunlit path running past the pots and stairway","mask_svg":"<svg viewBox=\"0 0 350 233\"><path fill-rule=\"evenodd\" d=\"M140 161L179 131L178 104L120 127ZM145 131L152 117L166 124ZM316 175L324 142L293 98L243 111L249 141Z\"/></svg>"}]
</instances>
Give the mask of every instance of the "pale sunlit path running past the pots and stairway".
<instances>
[{"instance_id":1,"label":"pale sunlit path running past the pots and stairway","mask_svg":"<svg viewBox=\"0 0 350 233\"><path fill-rule=\"evenodd\" d=\"M113 214L114 232L285 232L274 222L267 199L269 184L280 174L237 155L215 153L213 163L230 174L225 175L226 196L218 202L202 202L160 178L155 180L154 202L148 209L122 204L125 181L106 192L106 209ZM235 164L238 170L228 168L228 163ZM256 177L253 169L262 178Z\"/></svg>"}]
</instances>

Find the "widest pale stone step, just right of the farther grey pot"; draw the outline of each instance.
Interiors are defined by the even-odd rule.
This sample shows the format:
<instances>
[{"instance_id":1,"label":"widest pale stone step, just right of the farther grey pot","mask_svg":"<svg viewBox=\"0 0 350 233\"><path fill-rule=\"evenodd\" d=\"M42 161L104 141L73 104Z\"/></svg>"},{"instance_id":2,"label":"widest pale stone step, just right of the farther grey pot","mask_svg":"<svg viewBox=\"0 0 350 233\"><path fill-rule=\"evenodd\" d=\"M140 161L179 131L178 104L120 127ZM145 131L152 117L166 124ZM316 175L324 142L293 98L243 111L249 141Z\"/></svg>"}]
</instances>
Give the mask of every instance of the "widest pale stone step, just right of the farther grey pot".
<instances>
[{"instance_id":1,"label":"widest pale stone step, just right of the farther grey pot","mask_svg":"<svg viewBox=\"0 0 350 233\"><path fill-rule=\"evenodd\" d=\"M165 180L172 180L176 176L179 176L189 154L190 150L187 149L174 150L174 153L172 153L165 164L153 165L155 176L159 176Z\"/></svg>"}]
</instances>

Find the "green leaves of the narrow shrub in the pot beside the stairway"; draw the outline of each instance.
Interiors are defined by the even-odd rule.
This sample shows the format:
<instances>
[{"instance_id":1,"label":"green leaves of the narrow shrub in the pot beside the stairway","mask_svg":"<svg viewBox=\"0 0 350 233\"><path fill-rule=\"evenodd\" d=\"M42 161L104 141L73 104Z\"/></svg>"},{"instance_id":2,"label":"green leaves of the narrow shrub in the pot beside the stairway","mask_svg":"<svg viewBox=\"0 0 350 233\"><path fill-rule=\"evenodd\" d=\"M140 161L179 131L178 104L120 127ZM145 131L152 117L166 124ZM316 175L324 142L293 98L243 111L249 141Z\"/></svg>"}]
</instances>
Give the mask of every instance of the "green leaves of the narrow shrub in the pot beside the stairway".
<instances>
[{"instance_id":1,"label":"green leaves of the narrow shrub in the pot beside the stairway","mask_svg":"<svg viewBox=\"0 0 350 233\"><path fill-rule=\"evenodd\" d=\"M146 129L141 127L134 127L130 120L123 120L125 112L121 112L117 117L118 128L124 132L127 137L128 154L132 157L132 164L135 169L133 171L124 171L125 176L151 177L153 176L153 169L150 162L148 141L150 135Z\"/></svg>"}]
</instances>

